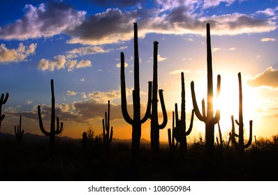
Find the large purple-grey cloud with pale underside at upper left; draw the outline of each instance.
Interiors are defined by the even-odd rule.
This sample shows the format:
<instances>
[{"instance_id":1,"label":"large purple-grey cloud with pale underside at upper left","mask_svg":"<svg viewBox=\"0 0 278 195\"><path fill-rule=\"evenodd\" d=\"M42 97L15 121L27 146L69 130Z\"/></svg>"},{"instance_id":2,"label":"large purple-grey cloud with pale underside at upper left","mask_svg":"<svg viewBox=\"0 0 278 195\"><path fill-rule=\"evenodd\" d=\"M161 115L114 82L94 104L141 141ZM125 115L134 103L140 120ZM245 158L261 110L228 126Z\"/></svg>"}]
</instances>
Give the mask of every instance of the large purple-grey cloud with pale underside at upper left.
<instances>
[{"instance_id":1,"label":"large purple-grey cloud with pale underside at upper left","mask_svg":"<svg viewBox=\"0 0 278 195\"><path fill-rule=\"evenodd\" d=\"M75 11L64 2L41 3L24 7L24 15L13 24L2 26L0 38L26 40L66 33L82 24L85 11Z\"/></svg>"}]
</instances>

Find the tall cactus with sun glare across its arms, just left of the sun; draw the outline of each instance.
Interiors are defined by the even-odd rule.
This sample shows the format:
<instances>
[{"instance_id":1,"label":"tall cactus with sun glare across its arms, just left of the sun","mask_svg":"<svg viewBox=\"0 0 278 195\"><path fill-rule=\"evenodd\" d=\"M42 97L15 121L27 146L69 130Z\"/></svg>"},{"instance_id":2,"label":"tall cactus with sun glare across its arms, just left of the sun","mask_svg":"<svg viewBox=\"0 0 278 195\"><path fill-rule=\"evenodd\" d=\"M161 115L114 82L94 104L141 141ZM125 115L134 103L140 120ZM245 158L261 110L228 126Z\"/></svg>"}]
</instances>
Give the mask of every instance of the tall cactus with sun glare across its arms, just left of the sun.
<instances>
[{"instance_id":1,"label":"tall cactus with sun glare across its arms, just left of the sun","mask_svg":"<svg viewBox=\"0 0 278 195\"><path fill-rule=\"evenodd\" d=\"M205 123L205 147L207 153L212 153L214 150L214 125L219 122L220 110L216 111L214 116L213 105L213 82L212 82L212 49L210 44L210 24L207 24L207 113L205 113L205 100L202 100L203 115L200 114L196 95L194 91L194 82L191 81L191 96L193 109L197 118ZM221 77L217 75L217 96L220 93Z\"/></svg>"}]
</instances>

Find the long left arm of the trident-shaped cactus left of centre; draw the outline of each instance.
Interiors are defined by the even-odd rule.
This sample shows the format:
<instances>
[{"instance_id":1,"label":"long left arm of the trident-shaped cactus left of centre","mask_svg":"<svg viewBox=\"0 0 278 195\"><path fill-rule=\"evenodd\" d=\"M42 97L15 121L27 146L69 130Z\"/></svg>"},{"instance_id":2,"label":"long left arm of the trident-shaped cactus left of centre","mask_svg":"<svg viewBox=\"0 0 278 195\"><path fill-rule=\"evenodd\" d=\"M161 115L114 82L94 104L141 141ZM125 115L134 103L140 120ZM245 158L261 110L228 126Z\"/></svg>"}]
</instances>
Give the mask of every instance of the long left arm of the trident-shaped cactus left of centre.
<instances>
[{"instance_id":1,"label":"long left arm of the trident-shaped cactus left of centre","mask_svg":"<svg viewBox=\"0 0 278 195\"><path fill-rule=\"evenodd\" d=\"M126 104L126 81L124 76L124 53L121 52L121 101L122 101L122 114L126 123L130 125L133 124L133 120L129 116L129 112L127 111L127 104Z\"/></svg>"}]
</instances>

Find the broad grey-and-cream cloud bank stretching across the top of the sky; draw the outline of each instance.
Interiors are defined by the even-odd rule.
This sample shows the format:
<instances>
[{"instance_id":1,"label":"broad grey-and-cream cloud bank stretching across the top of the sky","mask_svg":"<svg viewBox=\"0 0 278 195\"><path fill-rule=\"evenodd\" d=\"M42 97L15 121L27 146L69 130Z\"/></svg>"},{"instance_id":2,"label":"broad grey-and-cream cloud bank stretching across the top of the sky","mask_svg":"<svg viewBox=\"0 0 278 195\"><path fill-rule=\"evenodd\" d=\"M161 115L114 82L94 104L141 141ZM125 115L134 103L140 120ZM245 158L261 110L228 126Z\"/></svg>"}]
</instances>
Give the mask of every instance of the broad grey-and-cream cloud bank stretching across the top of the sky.
<instances>
[{"instance_id":1,"label":"broad grey-and-cream cloud bank stretching across the top of the sky","mask_svg":"<svg viewBox=\"0 0 278 195\"><path fill-rule=\"evenodd\" d=\"M131 40L133 22L138 22L140 37L146 33L204 35L207 22L211 24L212 34L217 35L233 36L277 29L274 22L277 9L267 8L251 14L204 15L207 8L219 6L220 3L231 6L241 2L235 0L156 0L152 1L152 8L143 7L145 1L139 0L118 0L119 8L113 8L115 2L93 2L112 8L86 16L86 11L74 10L64 2L41 3L38 7L27 5L20 20L0 27L0 38L26 40L66 33L71 36L68 43L103 45Z\"/></svg>"}]
</instances>

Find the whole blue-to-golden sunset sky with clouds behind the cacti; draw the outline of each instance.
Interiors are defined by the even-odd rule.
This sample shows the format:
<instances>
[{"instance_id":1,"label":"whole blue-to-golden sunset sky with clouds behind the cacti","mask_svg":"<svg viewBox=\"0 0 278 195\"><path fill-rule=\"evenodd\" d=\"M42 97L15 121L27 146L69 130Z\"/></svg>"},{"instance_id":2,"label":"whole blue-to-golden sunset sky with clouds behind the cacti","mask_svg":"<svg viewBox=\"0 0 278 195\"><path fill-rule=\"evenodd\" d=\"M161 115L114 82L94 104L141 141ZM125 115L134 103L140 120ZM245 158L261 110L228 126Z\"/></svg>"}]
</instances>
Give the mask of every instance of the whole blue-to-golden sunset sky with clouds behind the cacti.
<instances>
[{"instance_id":1,"label":"whole blue-to-golden sunset sky with clouds behind the cacti","mask_svg":"<svg viewBox=\"0 0 278 195\"><path fill-rule=\"evenodd\" d=\"M159 42L159 89L168 113L160 131L167 140L175 103L180 110L181 72L186 88L186 126L191 109L190 82L199 104L207 98L205 27L211 26L214 89L221 75L224 138L231 131L231 115L238 118L238 79L242 75L243 119L247 137L278 134L278 1L276 0L3 0L0 6L0 93L9 93L2 105L1 132L13 134L22 115L22 129L42 134L50 130L54 79L56 116L64 123L60 136L82 138L91 128L102 133L102 119L111 103L114 137L131 139L131 125L122 117L120 52L126 58L126 88L132 115L133 23L138 24L141 114L147 104L147 82L152 81L153 42ZM161 117L161 108L159 107ZM162 123L162 117L159 118ZM149 140L150 120L142 125ZM189 140L204 134L205 125L194 118ZM215 135L218 129L215 127Z\"/></svg>"}]
</instances>

